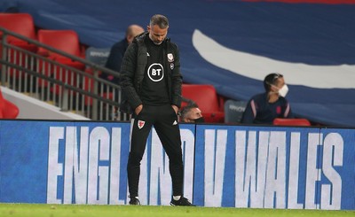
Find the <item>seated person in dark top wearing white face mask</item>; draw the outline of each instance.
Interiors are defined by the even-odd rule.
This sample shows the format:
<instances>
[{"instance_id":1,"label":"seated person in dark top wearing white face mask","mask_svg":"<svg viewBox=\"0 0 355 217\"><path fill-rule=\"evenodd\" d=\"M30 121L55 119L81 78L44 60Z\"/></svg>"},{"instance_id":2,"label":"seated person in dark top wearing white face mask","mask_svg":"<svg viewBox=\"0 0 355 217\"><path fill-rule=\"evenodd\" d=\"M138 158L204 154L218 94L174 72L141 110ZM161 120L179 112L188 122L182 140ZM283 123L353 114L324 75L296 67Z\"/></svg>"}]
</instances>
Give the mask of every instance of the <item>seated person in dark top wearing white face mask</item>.
<instances>
[{"instance_id":1,"label":"seated person in dark top wearing white face mask","mask_svg":"<svg viewBox=\"0 0 355 217\"><path fill-rule=\"evenodd\" d=\"M288 100L288 85L282 74L268 74L264 78L265 92L248 101L241 123L272 124L275 118L294 118Z\"/></svg>"}]
</instances>

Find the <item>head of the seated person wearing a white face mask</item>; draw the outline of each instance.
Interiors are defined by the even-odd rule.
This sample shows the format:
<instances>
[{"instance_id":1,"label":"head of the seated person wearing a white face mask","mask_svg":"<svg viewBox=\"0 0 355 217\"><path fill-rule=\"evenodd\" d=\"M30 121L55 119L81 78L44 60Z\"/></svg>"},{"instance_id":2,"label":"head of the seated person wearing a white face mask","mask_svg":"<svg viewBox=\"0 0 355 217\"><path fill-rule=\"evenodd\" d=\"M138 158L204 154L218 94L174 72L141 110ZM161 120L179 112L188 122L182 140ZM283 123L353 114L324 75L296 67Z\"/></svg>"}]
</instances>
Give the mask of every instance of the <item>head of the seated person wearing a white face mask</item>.
<instances>
[{"instance_id":1,"label":"head of the seated person wearing a white face mask","mask_svg":"<svg viewBox=\"0 0 355 217\"><path fill-rule=\"evenodd\" d=\"M264 89L269 94L278 94L280 97L286 97L288 85L286 85L282 74L268 74L264 78Z\"/></svg>"}]
</instances>

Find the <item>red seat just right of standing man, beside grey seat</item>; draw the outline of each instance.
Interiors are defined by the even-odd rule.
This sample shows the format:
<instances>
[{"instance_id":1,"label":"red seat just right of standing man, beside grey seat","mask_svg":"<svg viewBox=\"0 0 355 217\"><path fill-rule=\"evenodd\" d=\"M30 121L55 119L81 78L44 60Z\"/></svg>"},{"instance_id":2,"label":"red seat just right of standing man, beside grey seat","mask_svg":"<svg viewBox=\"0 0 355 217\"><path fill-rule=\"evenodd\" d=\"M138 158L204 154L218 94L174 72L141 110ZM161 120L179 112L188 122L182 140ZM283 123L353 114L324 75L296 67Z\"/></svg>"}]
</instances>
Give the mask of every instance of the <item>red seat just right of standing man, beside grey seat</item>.
<instances>
[{"instance_id":1,"label":"red seat just right of standing man, beside grey seat","mask_svg":"<svg viewBox=\"0 0 355 217\"><path fill-rule=\"evenodd\" d=\"M206 122L223 123L225 112L220 105L216 89L209 84L183 84L182 96L199 105ZM186 105L183 102L182 107Z\"/></svg>"}]
</instances>

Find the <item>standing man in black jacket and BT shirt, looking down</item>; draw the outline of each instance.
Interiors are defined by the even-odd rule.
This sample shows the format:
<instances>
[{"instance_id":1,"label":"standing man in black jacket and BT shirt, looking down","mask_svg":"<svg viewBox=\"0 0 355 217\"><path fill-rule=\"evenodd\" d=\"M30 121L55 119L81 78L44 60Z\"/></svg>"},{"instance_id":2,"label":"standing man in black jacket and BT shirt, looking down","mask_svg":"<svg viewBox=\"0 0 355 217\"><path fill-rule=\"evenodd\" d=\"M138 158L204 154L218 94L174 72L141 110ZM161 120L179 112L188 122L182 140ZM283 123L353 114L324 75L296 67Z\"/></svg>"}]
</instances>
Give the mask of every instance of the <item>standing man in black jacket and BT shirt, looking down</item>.
<instances>
[{"instance_id":1,"label":"standing man in black jacket and BT shirt, looking down","mask_svg":"<svg viewBox=\"0 0 355 217\"><path fill-rule=\"evenodd\" d=\"M127 165L130 205L139 205L140 161L146 139L154 126L170 159L173 197L170 205L192 205L183 196L184 165L177 111L181 105L180 60L175 43L167 39L169 21L160 14L151 19L147 32L130 44L122 61L120 109L131 112L130 156Z\"/></svg>"}]
</instances>

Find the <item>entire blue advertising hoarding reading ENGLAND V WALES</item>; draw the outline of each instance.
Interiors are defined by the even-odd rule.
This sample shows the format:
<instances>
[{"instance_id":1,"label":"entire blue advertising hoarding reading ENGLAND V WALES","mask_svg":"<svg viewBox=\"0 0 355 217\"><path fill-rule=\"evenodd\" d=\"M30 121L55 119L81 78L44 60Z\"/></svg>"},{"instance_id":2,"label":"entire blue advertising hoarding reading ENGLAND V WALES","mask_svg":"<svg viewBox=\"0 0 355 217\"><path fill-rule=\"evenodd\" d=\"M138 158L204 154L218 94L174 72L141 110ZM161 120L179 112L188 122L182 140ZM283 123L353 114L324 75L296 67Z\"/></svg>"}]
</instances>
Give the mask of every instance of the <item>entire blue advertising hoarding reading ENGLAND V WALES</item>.
<instances>
[{"instance_id":1,"label":"entire blue advertising hoarding reading ENGLAND V WALES","mask_svg":"<svg viewBox=\"0 0 355 217\"><path fill-rule=\"evenodd\" d=\"M180 125L195 205L355 209L355 129ZM130 124L0 121L0 202L128 203ZM169 159L154 129L139 199L169 205Z\"/></svg>"}]
</instances>

